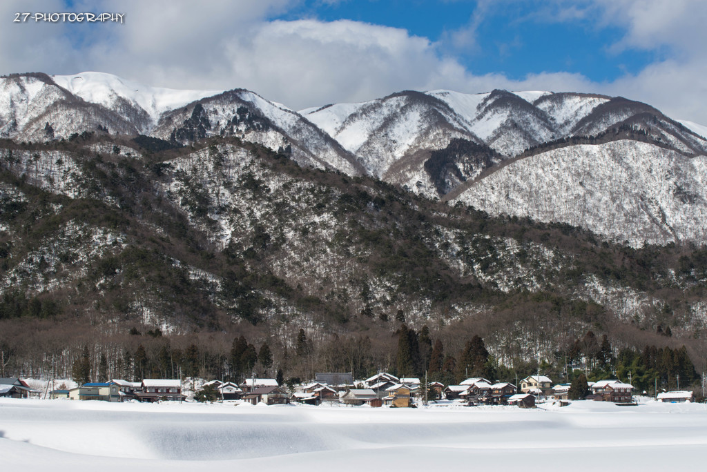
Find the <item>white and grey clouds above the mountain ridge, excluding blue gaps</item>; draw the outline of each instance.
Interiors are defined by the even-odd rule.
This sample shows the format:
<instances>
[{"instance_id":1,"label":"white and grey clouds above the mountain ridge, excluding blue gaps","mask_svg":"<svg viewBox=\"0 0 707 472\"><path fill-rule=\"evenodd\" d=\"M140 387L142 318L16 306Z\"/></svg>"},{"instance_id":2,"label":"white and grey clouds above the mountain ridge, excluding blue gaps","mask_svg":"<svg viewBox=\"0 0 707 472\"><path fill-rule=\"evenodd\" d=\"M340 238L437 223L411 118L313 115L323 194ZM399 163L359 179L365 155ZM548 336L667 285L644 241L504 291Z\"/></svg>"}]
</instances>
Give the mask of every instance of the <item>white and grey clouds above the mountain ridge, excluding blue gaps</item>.
<instances>
[{"instance_id":1,"label":"white and grey clouds above the mountain ridge, excluding blue gaps","mask_svg":"<svg viewBox=\"0 0 707 472\"><path fill-rule=\"evenodd\" d=\"M617 50L669 48L635 76L596 83L575 73L552 72L509 80L503 73L483 76L460 64L445 41L433 43L399 28L348 20L271 21L299 0L84 1L74 11L126 13L124 25L7 25L2 73L97 70L173 88L249 88L295 109L329 102L370 100L404 89L449 88L477 93L508 90L586 91L624 95L658 107L672 117L707 124L699 105L707 90L707 2L675 0L548 0L539 5L568 22L612 24L626 30ZM516 0L513 0L516 1ZM488 13L512 0L481 2L457 40L466 45ZM670 3L670 8L665 4ZM29 5L29 6L28 6ZM547 9L546 8L546 9ZM62 1L27 4L6 1L0 17L14 11L68 11ZM560 14L563 13L563 14ZM537 20L540 21L539 19ZM586 24L586 23L585 23Z\"/></svg>"}]
</instances>

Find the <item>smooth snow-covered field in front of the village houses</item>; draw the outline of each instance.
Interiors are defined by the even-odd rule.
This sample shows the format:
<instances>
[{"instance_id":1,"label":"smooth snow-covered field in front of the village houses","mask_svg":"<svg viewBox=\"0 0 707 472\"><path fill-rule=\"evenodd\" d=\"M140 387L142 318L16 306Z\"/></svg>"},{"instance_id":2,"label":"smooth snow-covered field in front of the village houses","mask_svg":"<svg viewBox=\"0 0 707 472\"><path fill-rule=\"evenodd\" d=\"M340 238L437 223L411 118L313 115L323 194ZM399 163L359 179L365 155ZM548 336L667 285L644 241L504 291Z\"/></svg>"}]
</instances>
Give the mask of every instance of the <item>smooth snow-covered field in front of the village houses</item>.
<instances>
[{"instance_id":1,"label":"smooth snow-covered field in front of the village houses","mask_svg":"<svg viewBox=\"0 0 707 472\"><path fill-rule=\"evenodd\" d=\"M707 453L707 406L250 406L0 399L3 470L674 470ZM619 469L617 469L619 468ZM699 468L696 468L699 470Z\"/></svg>"}]
</instances>

